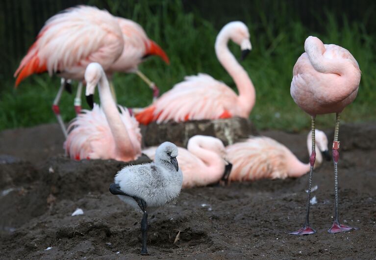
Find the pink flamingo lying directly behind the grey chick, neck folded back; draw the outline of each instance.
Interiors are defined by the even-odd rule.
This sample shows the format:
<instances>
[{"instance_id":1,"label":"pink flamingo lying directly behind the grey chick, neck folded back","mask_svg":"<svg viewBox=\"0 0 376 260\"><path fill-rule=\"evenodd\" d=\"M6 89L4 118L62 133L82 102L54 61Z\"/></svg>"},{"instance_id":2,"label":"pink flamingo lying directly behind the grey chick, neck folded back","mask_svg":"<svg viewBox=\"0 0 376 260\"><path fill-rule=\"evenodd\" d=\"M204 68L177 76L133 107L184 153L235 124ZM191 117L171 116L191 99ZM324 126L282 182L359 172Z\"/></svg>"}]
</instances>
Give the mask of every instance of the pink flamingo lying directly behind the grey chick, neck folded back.
<instances>
[{"instance_id":1,"label":"pink flamingo lying directly behind the grey chick, neck folded back","mask_svg":"<svg viewBox=\"0 0 376 260\"><path fill-rule=\"evenodd\" d=\"M142 151L154 160L157 147ZM183 188L205 186L219 182L231 164L226 162L222 141L205 135L195 135L188 140L187 149L178 147L179 167L183 172ZM226 165L229 165L226 167Z\"/></svg>"}]
</instances>

